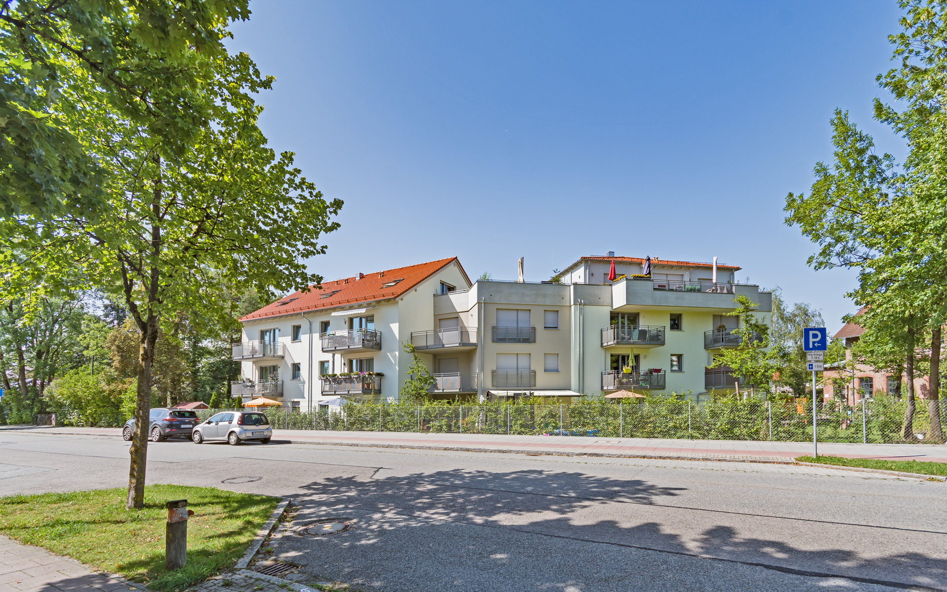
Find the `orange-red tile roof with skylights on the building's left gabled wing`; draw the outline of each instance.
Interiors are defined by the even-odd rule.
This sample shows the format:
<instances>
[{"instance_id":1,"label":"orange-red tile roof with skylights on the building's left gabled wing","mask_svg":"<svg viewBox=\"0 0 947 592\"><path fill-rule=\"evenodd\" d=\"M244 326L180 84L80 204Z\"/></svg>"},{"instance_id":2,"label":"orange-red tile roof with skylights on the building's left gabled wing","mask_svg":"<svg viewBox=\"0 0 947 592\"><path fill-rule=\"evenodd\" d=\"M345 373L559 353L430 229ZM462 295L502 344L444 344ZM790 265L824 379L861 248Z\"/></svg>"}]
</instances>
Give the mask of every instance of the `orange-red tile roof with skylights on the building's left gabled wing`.
<instances>
[{"instance_id":1,"label":"orange-red tile roof with skylights on the building's left gabled wing","mask_svg":"<svg viewBox=\"0 0 947 592\"><path fill-rule=\"evenodd\" d=\"M457 267L460 267L460 273L464 275L464 278L467 279L468 286L470 286L471 280L467 277L467 272L465 272L463 266L460 265L460 261L457 260L456 257L452 257L450 259L429 261L418 265L408 265L407 267L397 267L395 269L386 269L382 272L365 274L361 279L352 277L323 281L321 290L315 286L310 286L310 292L296 291L289 296L279 298L272 304L264 306L255 313L243 316L240 320L248 321L270 316L282 316L284 314L299 314L308 311L331 309L348 304L358 304L360 302L367 303L375 300L397 298L420 284L420 282L430 278L444 267L447 267L453 261L457 261ZM384 285L395 280L401 281L389 286ZM465 288L468 286L465 286ZM326 296L327 294L331 294L331 296Z\"/></svg>"}]
</instances>

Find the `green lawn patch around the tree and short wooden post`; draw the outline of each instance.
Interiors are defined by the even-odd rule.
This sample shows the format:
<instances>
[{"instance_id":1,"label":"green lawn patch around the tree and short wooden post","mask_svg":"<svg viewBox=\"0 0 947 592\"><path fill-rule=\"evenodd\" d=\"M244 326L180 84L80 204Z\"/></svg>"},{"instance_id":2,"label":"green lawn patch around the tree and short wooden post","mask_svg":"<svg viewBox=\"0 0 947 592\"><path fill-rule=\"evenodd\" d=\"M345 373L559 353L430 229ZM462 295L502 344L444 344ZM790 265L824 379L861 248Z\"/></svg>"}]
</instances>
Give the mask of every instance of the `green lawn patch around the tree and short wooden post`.
<instances>
[{"instance_id":1,"label":"green lawn patch around the tree and short wooden post","mask_svg":"<svg viewBox=\"0 0 947 592\"><path fill-rule=\"evenodd\" d=\"M187 499L188 565L165 571L165 502ZM240 559L279 499L211 487L152 485L144 510L125 510L125 490L0 497L0 532L83 564L181 590Z\"/></svg>"}]
</instances>

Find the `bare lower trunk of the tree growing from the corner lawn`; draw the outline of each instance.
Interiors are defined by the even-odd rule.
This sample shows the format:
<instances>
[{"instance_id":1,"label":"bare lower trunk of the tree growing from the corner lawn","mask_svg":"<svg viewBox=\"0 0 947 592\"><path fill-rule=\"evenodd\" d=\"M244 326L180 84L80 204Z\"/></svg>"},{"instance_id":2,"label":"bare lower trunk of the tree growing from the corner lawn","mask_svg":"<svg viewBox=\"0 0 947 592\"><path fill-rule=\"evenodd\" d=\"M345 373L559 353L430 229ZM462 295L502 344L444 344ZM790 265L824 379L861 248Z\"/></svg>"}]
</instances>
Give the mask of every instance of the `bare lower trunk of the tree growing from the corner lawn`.
<instances>
[{"instance_id":1,"label":"bare lower trunk of the tree growing from the corner lawn","mask_svg":"<svg viewBox=\"0 0 947 592\"><path fill-rule=\"evenodd\" d=\"M141 510L145 507L145 467L148 461L148 428L151 425L152 411L152 364L154 362L154 344L158 338L158 319L150 314L141 332L141 345L138 350L137 393L134 404L134 435L132 437L132 465L128 475L128 497L125 507L129 510Z\"/></svg>"}]
</instances>

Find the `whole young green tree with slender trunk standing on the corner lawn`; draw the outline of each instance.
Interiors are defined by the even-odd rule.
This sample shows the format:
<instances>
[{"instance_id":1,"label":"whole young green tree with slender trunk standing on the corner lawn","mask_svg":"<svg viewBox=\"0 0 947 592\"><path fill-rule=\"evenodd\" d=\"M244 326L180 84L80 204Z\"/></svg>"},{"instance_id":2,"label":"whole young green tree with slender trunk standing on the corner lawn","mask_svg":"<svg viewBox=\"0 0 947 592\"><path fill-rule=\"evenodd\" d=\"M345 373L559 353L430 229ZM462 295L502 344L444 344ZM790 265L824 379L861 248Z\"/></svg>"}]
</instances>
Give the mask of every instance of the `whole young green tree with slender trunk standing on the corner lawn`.
<instances>
[{"instance_id":1,"label":"whole young green tree with slender trunk standing on the corner lawn","mask_svg":"<svg viewBox=\"0 0 947 592\"><path fill-rule=\"evenodd\" d=\"M80 141L109 170L106 215L21 217L0 228L8 252L30 254L9 269L21 285L45 279L56 286L62 274L124 300L139 331L136 426L148 425L162 331L169 333L179 314L199 327L220 325L231 312L227 286L268 295L318 285L322 278L303 261L325 252L318 239L338 227L330 218L342 206L301 176L291 152L277 157L267 147L251 94L270 88L271 78L260 78L245 54L194 51L190 60L213 72L203 99L212 125L198 130L182 154L104 102L97 89L70 86L83 107L69 114ZM135 430L129 508L143 505L147 438Z\"/></svg>"}]
</instances>

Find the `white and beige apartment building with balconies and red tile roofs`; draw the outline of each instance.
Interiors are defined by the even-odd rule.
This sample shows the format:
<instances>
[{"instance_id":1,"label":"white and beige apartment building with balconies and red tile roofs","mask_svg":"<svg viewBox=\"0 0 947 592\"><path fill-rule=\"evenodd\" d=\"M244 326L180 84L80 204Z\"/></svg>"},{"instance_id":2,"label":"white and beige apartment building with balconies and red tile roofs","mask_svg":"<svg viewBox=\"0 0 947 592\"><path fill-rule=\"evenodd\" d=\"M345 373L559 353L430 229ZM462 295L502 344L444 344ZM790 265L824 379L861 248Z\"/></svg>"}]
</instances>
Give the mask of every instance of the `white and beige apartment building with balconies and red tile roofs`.
<instances>
[{"instance_id":1,"label":"white and beige apartment building with balconies and red tile roofs","mask_svg":"<svg viewBox=\"0 0 947 592\"><path fill-rule=\"evenodd\" d=\"M435 398L732 391L725 368L706 368L740 343L726 313L745 295L769 322L771 295L734 283L735 266L652 260L649 278L633 278L643 264L609 253L576 261L560 283L474 283L452 258L326 281L241 318L231 394L301 410L397 399L408 342L435 375Z\"/></svg>"}]
</instances>

